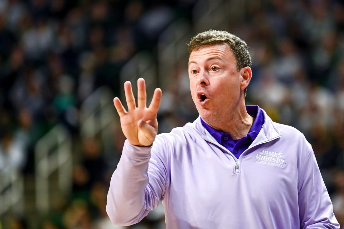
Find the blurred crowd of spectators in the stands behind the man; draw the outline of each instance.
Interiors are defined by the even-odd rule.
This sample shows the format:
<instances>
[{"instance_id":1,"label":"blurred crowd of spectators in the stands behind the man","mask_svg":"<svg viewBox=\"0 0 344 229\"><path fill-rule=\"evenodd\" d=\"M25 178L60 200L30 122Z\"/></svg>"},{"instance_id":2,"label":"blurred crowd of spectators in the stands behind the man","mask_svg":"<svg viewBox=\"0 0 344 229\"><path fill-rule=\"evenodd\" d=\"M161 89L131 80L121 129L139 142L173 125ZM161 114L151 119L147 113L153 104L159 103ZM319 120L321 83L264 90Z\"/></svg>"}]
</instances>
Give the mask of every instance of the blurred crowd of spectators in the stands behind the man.
<instances>
[{"instance_id":1,"label":"blurred crowd of spectators in the stands behind the man","mask_svg":"<svg viewBox=\"0 0 344 229\"><path fill-rule=\"evenodd\" d=\"M71 196L41 216L38 228L125 228L111 226L105 211L124 137L114 132L115 161L109 162L99 139L80 137L80 104L102 85L118 96L122 66L141 50L154 56L159 35L172 21L192 24L196 2L0 0L0 173L15 168L34 174L34 146L58 123L79 149ZM343 225L344 3L240 2L234 10L239 13L229 15L222 27L250 47L253 77L246 103L304 133ZM163 91L159 132L197 117L187 62L176 68L173 85ZM13 215L1 223L20 229L30 228L30 222ZM164 228L163 210L131 228Z\"/></svg>"}]
</instances>

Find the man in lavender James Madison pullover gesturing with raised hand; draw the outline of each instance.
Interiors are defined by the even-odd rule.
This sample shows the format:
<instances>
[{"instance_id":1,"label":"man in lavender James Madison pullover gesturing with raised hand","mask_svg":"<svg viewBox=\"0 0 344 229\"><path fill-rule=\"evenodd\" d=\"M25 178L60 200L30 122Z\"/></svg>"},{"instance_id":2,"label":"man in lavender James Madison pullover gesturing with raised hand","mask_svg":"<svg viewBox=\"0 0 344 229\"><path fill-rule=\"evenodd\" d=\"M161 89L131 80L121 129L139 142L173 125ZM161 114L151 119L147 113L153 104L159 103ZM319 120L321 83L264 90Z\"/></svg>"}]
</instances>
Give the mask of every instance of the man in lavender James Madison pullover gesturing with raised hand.
<instances>
[{"instance_id":1,"label":"man in lavender James Madison pullover gesturing with raised hand","mask_svg":"<svg viewBox=\"0 0 344 229\"><path fill-rule=\"evenodd\" d=\"M189 77L200 116L157 135L161 90L128 111L114 98L127 140L110 183L111 221L132 225L162 200L166 228L339 228L310 144L295 128L245 106L251 80L247 44L206 31L189 45Z\"/></svg>"}]
</instances>

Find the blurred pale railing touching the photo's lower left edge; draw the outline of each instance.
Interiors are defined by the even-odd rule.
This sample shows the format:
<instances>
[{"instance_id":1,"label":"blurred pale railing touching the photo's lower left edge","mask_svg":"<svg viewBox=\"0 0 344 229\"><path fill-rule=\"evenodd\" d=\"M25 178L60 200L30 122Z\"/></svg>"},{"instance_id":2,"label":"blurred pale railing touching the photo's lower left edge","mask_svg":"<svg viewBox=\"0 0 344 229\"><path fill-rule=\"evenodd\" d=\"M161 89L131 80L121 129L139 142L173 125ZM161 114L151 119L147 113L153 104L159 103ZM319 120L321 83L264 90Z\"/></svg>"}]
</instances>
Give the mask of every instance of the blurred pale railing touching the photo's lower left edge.
<instances>
[{"instance_id":1,"label":"blurred pale railing touching the photo's lower left edge","mask_svg":"<svg viewBox=\"0 0 344 229\"><path fill-rule=\"evenodd\" d=\"M21 171L12 169L0 173L0 216L8 210L24 211L24 179Z\"/></svg>"}]
</instances>

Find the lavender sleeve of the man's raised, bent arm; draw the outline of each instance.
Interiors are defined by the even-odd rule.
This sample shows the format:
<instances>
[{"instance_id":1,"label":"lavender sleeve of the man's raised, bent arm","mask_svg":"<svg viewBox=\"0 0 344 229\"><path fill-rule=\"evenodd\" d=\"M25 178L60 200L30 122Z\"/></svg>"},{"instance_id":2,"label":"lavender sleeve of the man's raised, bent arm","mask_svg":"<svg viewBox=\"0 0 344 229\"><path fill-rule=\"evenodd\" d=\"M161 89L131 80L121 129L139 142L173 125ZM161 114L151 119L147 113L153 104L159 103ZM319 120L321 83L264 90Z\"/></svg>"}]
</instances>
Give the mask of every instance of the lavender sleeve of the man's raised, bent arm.
<instances>
[{"instance_id":1,"label":"lavender sleeve of the man's raised, bent arm","mask_svg":"<svg viewBox=\"0 0 344 229\"><path fill-rule=\"evenodd\" d=\"M106 211L115 225L129 226L141 221L162 199L167 176L166 161L161 155L165 152L154 149L154 145L157 144L138 147L126 140L123 146L107 195Z\"/></svg>"}]
</instances>

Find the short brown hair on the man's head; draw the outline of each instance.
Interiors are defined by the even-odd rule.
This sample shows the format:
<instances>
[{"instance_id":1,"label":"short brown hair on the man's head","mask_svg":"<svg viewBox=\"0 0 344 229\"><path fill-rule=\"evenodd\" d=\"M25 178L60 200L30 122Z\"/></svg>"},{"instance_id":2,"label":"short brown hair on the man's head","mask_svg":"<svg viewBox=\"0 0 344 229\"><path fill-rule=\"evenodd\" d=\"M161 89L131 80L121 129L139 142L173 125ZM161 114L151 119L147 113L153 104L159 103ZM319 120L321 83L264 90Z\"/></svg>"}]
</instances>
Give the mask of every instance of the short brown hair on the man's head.
<instances>
[{"instance_id":1,"label":"short brown hair on the man's head","mask_svg":"<svg viewBox=\"0 0 344 229\"><path fill-rule=\"evenodd\" d=\"M232 49L234 53L238 70L243 67L251 66L252 59L246 42L236 35L222 30L208 30L198 33L190 41L189 54L203 45L213 44L227 44L230 46L230 49Z\"/></svg>"}]
</instances>

